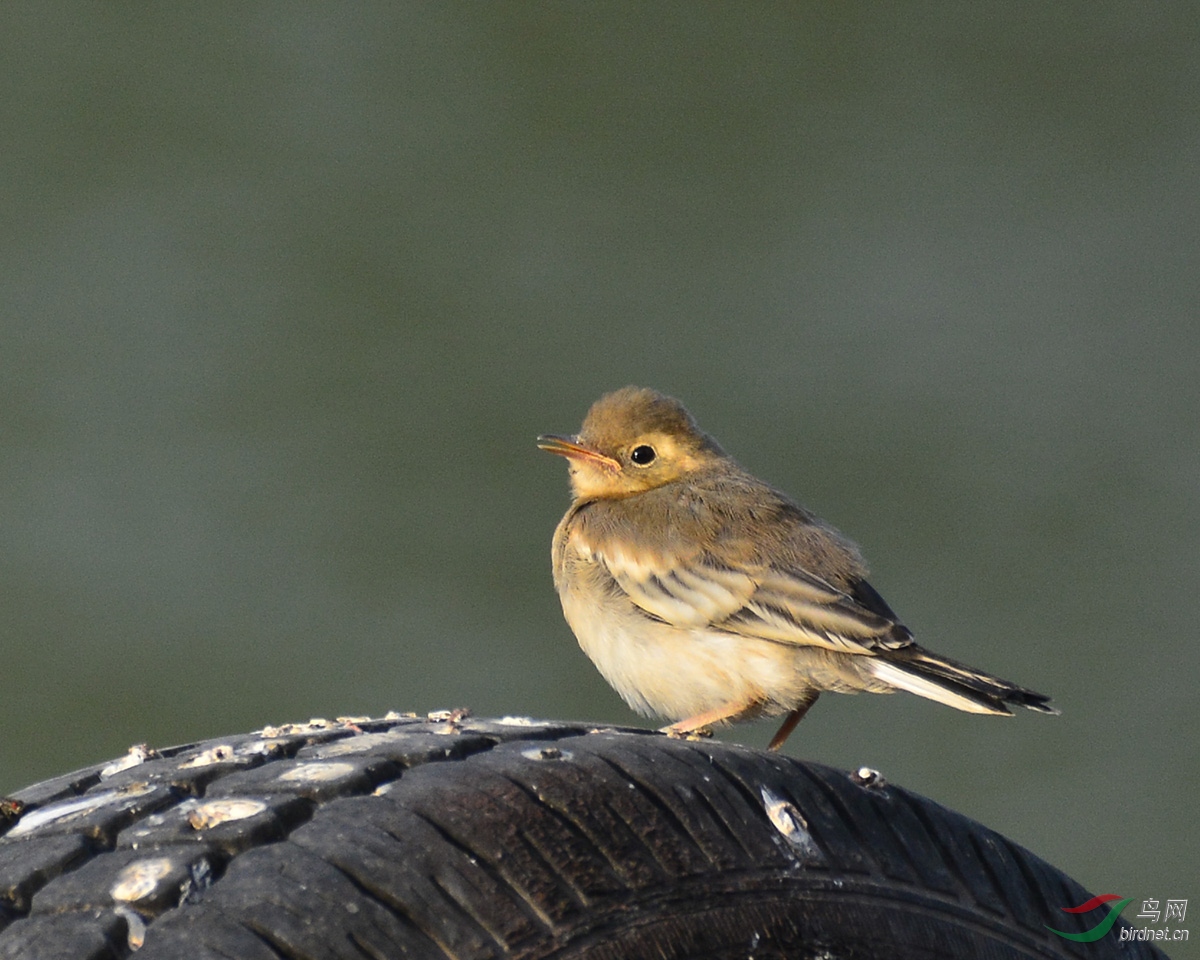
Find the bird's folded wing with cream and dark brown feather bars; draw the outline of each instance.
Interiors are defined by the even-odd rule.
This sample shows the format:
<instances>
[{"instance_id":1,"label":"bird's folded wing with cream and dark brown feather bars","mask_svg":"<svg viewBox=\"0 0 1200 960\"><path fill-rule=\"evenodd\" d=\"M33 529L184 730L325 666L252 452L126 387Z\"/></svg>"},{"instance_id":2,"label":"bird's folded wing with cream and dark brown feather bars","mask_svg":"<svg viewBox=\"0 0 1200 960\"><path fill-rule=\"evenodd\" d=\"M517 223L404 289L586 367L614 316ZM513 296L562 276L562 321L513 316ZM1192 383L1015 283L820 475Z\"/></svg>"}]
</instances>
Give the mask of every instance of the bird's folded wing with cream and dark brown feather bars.
<instances>
[{"instance_id":1,"label":"bird's folded wing with cream and dark brown feather bars","mask_svg":"<svg viewBox=\"0 0 1200 960\"><path fill-rule=\"evenodd\" d=\"M847 593L794 568L734 570L704 556L646 563L619 550L593 558L636 606L674 626L858 654L912 643L912 635L866 581Z\"/></svg>"}]
</instances>

